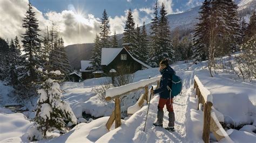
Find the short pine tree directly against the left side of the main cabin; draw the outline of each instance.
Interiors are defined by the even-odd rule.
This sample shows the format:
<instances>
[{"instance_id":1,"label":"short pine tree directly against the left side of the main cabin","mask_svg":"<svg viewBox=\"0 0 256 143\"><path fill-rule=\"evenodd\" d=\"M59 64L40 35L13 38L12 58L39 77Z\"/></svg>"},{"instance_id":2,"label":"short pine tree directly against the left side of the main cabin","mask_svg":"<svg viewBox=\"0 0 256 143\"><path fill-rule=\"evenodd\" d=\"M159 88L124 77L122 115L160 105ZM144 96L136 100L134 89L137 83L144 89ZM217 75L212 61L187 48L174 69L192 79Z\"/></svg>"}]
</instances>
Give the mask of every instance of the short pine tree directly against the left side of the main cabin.
<instances>
[{"instance_id":1,"label":"short pine tree directly against the left side of the main cabin","mask_svg":"<svg viewBox=\"0 0 256 143\"><path fill-rule=\"evenodd\" d=\"M91 65L94 71L101 69L101 55L102 55L102 48L100 47L100 38L99 35L96 34L96 38L94 40L95 45L92 49L92 56L91 56Z\"/></svg>"}]
</instances>

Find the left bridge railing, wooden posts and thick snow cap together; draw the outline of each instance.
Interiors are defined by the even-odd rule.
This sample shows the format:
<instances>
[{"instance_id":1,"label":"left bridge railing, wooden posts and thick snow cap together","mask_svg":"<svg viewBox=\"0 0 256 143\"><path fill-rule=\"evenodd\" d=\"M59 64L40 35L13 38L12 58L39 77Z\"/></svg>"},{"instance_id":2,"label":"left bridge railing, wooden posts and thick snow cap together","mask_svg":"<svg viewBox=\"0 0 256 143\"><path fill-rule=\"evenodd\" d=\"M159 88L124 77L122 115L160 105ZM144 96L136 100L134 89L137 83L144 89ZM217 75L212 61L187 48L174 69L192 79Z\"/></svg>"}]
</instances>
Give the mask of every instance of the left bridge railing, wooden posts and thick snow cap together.
<instances>
[{"instance_id":1,"label":"left bridge railing, wooden posts and thick snow cap together","mask_svg":"<svg viewBox=\"0 0 256 143\"><path fill-rule=\"evenodd\" d=\"M144 99L149 102L149 96L148 96L148 87L152 85L153 83L157 82L157 86L159 87L159 80L160 76L150 78L148 80L141 80L138 82L126 84L120 87L110 88L106 90L106 101L110 101L111 99L114 99L114 111L112 112L112 115L110 116L109 120L107 120L106 127L107 130L110 130L110 127L115 121L115 127L119 127L121 125L121 110L120 110L120 97L129 94L130 92L135 92L140 89L145 89L144 94L142 97L139 98L135 106L141 107L144 103ZM138 110L138 108L130 108L129 112L134 113Z\"/></svg>"}]
</instances>

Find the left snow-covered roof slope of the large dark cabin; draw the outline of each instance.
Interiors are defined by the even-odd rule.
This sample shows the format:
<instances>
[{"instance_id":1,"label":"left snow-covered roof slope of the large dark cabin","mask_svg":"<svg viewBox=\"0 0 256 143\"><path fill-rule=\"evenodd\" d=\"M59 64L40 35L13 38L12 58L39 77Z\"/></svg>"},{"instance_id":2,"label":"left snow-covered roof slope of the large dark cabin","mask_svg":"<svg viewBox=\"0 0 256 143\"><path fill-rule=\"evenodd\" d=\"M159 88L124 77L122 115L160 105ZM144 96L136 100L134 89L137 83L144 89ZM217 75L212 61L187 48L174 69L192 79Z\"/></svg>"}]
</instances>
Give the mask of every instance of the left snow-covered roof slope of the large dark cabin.
<instances>
[{"instance_id":1,"label":"left snow-covered roof slope of the large dark cabin","mask_svg":"<svg viewBox=\"0 0 256 143\"><path fill-rule=\"evenodd\" d=\"M109 65L110 62L122 51L123 48L102 48L102 65Z\"/></svg>"}]
</instances>

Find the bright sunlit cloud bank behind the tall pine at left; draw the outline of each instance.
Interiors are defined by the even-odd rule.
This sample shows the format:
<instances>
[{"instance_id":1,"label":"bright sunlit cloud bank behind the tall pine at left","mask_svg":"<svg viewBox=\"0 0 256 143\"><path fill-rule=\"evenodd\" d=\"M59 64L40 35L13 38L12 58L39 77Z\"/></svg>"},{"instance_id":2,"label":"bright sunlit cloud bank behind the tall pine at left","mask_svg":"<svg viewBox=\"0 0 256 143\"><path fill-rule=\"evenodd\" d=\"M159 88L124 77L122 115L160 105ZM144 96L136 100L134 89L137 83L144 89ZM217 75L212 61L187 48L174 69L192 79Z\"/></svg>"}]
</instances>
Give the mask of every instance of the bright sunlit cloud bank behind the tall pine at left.
<instances>
[{"instance_id":1,"label":"bright sunlit cloud bank behind the tall pine at left","mask_svg":"<svg viewBox=\"0 0 256 143\"><path fill-rule=\"evenodd\" d=\"M22 19L28 9L28 0L9 0L0 1L0 37L5 39L14 39L17 35L19 39L25 31L22 28ZM46 33L46 26L55 24L59 37L63 37L65 45L93 42L96 33L100 32L99 18L95 18L91 14L86 16L79 15L74 10L64 10L62 12L50 11L43 13L36 8L39 29L42 36Z\"/></svg>"}]
</instances>

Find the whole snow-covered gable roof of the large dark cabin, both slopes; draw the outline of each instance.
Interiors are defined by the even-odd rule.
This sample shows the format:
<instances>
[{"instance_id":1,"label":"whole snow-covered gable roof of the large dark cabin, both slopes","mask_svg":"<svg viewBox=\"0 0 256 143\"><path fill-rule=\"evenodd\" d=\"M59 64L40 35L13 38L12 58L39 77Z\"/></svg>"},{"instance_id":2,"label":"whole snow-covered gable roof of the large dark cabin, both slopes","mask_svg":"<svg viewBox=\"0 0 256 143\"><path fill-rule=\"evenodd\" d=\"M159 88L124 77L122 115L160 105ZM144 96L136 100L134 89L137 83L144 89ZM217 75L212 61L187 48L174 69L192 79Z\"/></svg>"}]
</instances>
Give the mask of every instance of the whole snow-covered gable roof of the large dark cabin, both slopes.
<instances>
[{"instance_id":1,"label":"whole snow-covered gable roof of the large dark cabin, both slopes","mask_svg":"<svg viewBox=\"0 0 256 143\"><path fill-rule=\"evenodd\" d=\"M102 48L102 65L109 65L109 63L111 63L114 58L116 58L116 56L122 51L123 48ZM126 50L126 48L124 48ZM127 53L129 53L126 50ZM141 65L143 65L146 68L151 68L149 65L146 65L144 62L134 58L130 53L129 55L132 57L133 60L137 61L138 63L140 63Z\"/></svg>"}]
</instances>

